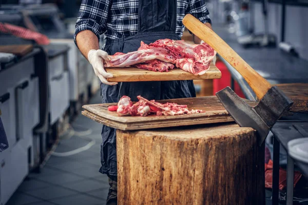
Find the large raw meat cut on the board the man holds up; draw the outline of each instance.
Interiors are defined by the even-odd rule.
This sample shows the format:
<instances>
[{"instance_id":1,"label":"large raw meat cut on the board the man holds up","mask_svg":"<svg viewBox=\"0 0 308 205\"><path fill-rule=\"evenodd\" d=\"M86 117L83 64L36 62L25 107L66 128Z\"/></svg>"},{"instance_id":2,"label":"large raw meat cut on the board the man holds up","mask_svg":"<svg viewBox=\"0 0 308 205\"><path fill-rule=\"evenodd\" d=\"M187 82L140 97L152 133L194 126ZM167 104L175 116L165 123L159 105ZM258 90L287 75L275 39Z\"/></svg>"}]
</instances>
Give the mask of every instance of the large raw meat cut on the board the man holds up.
<instances>
[{"instance_id":1,"label":"large raw meat cut on the board the man holds up","mask_svg":"<svg viewBox=\"0 0 308 205\"><path fill-rule=\"evenodd\" d=\"M160 72L176 66L194 75L203 75L215 55L216 51L206 43L192 45L184 40L161 39L149 45L141 42L138 51L108 55L104 58L104 66L134 66Z\"/></svg>"}]
</instances>

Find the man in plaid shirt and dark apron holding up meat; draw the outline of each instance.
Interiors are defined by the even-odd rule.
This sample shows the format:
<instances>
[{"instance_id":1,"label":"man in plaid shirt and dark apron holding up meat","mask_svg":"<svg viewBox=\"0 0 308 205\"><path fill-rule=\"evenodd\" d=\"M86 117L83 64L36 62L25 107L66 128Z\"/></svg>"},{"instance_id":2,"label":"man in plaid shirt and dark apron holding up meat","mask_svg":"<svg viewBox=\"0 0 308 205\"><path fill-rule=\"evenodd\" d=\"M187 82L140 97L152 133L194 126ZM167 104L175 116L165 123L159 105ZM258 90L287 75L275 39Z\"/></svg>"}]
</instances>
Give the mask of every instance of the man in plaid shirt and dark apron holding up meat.
<instances>
[{"instance_id":1,"label":"man in plaid shirt and dark apron holding up meat","mask_svg":"<svg viewBox=\"0 0 308 205\"><path fill-rule=\"evenodd\" d=\"M132 83L108 82L111 74L104 70L102 55L107 52L136 51L158 39L180 40L184 26L182 19L192 14L211 28L211 20L204 0L82 0L75 25L74 41L102 81L102 103L116 103L123 96L137 101L196 97L192 80L148 81ZM106 44L99 47L100 35ZM194 36L195 44L201 40ZM105 52L104 52L105 51ZM101 145L102 174L107 174L109 193L107 204L117 204L117 153L115 129L103 126Z\"/></svg>"}]
</instances>

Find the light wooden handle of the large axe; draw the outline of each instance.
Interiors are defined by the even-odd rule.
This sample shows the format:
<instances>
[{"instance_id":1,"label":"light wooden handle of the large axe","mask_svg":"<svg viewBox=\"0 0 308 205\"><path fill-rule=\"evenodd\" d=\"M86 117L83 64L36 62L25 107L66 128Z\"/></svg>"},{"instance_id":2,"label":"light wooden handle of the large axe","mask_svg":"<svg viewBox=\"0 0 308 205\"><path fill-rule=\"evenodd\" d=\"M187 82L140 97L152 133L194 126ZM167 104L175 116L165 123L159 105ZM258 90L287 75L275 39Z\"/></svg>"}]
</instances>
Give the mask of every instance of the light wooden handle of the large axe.
<instances>
[{"instance_id":1,"label":"light wooden handle of the large axe","mask_svg":"<svg viewBox=\"0 0 308 205\"><path fill-rule=\"evenodd\" d=\"M200 20L191 14L187 14L183 18L183 24L189 31L206 42L231 64L244 77L259 99L272 87L266 79L249 66L221 37L202 24Z\"/></svg>"}]
</instances>

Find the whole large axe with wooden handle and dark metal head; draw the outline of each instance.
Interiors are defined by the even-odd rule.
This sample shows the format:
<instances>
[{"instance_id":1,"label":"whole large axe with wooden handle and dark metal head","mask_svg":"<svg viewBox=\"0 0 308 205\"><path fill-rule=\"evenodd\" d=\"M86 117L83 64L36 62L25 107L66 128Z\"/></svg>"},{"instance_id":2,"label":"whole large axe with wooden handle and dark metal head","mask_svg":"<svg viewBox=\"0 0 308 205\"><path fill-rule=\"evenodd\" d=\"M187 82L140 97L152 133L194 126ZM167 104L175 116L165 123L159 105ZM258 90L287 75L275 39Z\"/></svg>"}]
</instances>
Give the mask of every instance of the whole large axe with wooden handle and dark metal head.
<instances>
[{"instance_id":1,"label":"whole large axe with wooden handle and dark metal head","mask_svg":"<svg viewBox=\"0 0 308 205\"><path fill-rule=\"evenodd\" d=\"M259 103L253 108L245 103L230 87L217 92L216 96L240 127L251 127L257 131L259 135L258 144L261 146L269 130L281 115L292 106L293 102L279 88L272 87L223 39L197 18L187 14L183 18L183 24L232 65L256 93Z\"/></svg>"}]
</instances>

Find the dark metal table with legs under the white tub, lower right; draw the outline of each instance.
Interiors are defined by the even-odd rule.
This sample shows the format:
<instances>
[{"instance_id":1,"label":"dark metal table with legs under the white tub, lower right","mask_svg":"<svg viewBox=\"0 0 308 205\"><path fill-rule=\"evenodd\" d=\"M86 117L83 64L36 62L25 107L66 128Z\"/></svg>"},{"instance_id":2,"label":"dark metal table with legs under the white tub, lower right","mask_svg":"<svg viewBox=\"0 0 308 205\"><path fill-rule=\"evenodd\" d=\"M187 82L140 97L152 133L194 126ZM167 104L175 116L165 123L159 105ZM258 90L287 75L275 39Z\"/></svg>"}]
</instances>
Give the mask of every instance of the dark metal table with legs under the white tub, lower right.
<instances>
[{"instance_id":1,"label":"dark metal table with legs under the white tub, lower right","mask_svg":"<svg viewBox=\"0 0 308 205\"><path fill-rule=\"evenodd\" d=\"M296 113L291 117L284 117L272 128L273 137L273 205L278 204L279 198L279 147L288 151L287 143L290 140L308 137L308 114ZM294 164L302 173L308 176L308 165L287 156L287 185L286 204L293 204Z\"/></svg>"}]
</instances>

